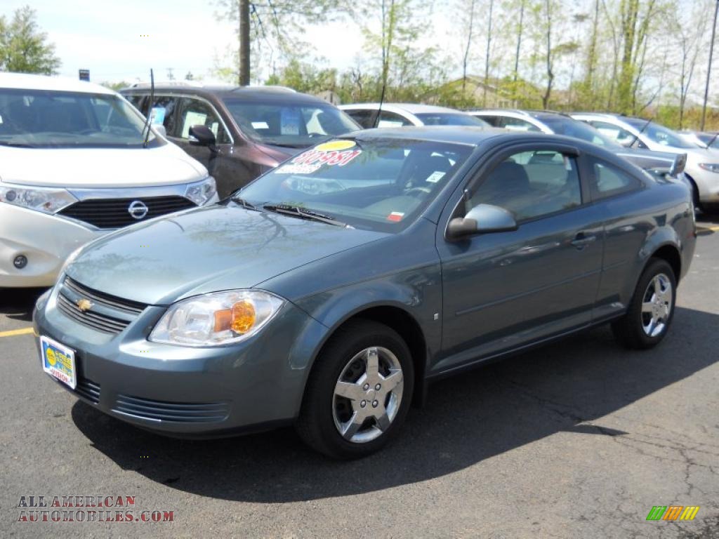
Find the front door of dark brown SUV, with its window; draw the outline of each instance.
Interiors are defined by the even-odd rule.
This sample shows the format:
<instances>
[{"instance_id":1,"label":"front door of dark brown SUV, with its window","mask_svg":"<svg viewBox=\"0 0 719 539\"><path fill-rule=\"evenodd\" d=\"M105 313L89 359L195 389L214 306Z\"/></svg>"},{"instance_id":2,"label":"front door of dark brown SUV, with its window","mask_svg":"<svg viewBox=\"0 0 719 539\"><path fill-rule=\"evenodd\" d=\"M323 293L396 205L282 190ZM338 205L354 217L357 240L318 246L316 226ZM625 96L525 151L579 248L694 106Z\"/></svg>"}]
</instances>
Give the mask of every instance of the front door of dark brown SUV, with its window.
<instances>
[{"instance_id":1,"label":"front door of dark brown SUV, with its window","mask_svg":"<svg viewBox=\"0 0 719 539\"><path fill-rule=\"evenodd\" d=\"M206 126L214 133L217 152L190 143L190 128L194 125ZM219 113L209 101L196 97L181 98L176 132L173 142L207 167L216 180L220 198L226 197L259 175L257 167L244 162L234 151L232 138Z\"/></svg>"}]
</instances>

